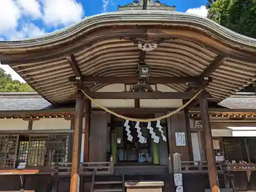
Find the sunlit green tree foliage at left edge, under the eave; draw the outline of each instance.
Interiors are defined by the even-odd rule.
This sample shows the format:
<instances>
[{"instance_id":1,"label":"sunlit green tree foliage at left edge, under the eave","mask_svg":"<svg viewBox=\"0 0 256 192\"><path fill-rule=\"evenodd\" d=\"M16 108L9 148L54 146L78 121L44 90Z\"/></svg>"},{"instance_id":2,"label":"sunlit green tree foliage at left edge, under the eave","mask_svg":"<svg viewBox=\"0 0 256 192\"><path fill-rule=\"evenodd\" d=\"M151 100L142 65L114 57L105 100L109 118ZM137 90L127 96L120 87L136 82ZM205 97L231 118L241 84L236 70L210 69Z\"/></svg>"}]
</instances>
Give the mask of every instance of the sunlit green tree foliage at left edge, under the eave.
<instances>
[{"instance_id":1,"label":"sunlit green tree foliage at left edge, under the eave","mask_svg":"<svg viewBox=\"0 0 256 192\"><path fill-rule=\"evenodd\" d=\"M10 74L0 68L0 92L34 92L28 83L13 80Z\"/></svg>"}]
</instances>

